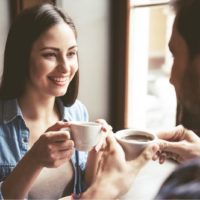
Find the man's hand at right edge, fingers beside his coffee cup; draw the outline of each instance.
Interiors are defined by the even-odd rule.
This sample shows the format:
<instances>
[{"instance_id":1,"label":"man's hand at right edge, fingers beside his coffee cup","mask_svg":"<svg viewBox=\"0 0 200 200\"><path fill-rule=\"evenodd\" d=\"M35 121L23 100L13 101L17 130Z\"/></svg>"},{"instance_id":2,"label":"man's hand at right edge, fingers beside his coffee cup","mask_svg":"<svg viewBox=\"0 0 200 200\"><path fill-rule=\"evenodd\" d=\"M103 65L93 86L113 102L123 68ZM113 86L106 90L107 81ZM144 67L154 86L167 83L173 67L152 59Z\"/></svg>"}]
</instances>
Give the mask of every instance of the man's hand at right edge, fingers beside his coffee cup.
<instances>
[{"instance_id":1,"label":"man's hand at right edge, fingers beside his coffee cup","mask_svg":"<svg viewBox=\"0 0 200 200\"><path fill-rule=\"evenodd\" d=\"M158 133L160 155L162 164L166 158L171 158L178 163L200 156L200 138L191 130L187 130L182 125L170 131Z\"/></svg>"}]
</instances>

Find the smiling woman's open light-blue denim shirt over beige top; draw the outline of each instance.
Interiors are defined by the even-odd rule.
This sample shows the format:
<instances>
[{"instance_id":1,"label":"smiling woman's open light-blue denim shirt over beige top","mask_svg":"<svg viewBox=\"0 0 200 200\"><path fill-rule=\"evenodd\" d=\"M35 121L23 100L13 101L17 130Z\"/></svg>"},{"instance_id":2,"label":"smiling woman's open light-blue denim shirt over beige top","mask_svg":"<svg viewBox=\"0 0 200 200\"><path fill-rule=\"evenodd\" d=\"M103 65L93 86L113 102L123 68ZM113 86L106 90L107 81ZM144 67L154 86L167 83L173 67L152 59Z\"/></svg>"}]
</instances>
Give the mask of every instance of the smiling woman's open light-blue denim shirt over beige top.
<instances>
[{"instance_id":1,"label":"smiling woman's open light-blue denim shirt over beige top","mask_svg":"<svg viewBox=\"0 0 200 200\"><path fill-rule=\"evenodd\" d=\"M87 109L80 101L77 100L71 107L64 107L59 98L56 99L56 103L63 120L88 121ZM0 101L0 199L3 199L1 193L2 182L28 151L29 135L30 132L25 125L18 101L16 99ZM78 153L79 167L83 171L87 154L84 152ZM75 162L74 153L72 156L74 166ZM76 183L76 181L74 182Z\"/></svg>"}]
</instances>

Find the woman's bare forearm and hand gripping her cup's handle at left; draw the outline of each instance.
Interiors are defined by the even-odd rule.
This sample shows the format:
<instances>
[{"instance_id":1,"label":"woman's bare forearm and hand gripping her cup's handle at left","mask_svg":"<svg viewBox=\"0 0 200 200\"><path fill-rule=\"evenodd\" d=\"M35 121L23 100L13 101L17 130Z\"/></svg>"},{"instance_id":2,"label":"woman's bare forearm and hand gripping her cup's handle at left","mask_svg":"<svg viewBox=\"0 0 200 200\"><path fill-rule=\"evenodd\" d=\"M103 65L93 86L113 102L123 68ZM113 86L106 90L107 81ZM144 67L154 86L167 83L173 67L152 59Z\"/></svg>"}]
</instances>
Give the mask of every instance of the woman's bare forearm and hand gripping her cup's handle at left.
<instances>
[{"instance_id":1,"label":"woman's bare forearm and hand gripping her cup's handle at left","mask_svg":"<svg viewBox=\"0 0 200 200\"><path fill-rule=\"evenodd\" d=\"M43 167L58 167L70 159L74 143L67 131L59 131L66 126L56 123L35 142L3 182L4 199L26 198Z\"/></svg>"}]
</instances>

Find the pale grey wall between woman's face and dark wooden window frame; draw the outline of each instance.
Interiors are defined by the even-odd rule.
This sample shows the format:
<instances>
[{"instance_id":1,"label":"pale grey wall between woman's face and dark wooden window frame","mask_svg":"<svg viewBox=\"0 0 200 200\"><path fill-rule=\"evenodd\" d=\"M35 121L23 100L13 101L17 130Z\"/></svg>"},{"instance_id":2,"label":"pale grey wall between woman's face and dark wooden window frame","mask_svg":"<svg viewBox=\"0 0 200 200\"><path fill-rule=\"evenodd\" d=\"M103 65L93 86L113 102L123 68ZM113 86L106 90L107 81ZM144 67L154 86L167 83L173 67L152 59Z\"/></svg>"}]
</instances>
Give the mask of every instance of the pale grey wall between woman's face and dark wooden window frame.
<instances>
[{"instance_id":1,"label":"pale grey wall between woman's face and dark wooden window frame","mask_svg":"<svg viewBox=\"0 0 200 200\"><path fill-rule=\"evenodd\" d=\"M78 30L80 60L79 99L90 120L108 119L109 100L109 1L58 0Z\"/></svg>"}]
</instances>

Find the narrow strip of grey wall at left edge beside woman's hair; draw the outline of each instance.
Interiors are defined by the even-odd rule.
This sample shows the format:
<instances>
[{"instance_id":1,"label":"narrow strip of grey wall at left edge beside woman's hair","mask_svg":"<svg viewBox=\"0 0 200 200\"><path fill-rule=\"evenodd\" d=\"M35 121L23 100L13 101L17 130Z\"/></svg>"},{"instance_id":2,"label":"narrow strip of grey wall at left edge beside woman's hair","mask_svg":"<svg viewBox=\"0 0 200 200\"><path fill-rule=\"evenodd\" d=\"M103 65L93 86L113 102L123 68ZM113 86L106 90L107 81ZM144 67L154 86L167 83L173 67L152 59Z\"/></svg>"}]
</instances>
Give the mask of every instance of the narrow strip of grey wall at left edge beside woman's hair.
<instances>
[{"instance_id":1,"label":"narrow strip of grey wall at left edge beside woman's hair","mask_svg":"<svg viewBox=\"0 0 200 200\"><path fill-rule=\"evenodd\" d=\"M10 24L9 16L9 1L1 0L0 1L0 76L2 75L3 70L3 55L4 47L7 38L7 33Z\"/></svg>"}]
</instances>

